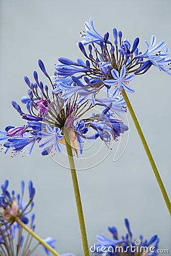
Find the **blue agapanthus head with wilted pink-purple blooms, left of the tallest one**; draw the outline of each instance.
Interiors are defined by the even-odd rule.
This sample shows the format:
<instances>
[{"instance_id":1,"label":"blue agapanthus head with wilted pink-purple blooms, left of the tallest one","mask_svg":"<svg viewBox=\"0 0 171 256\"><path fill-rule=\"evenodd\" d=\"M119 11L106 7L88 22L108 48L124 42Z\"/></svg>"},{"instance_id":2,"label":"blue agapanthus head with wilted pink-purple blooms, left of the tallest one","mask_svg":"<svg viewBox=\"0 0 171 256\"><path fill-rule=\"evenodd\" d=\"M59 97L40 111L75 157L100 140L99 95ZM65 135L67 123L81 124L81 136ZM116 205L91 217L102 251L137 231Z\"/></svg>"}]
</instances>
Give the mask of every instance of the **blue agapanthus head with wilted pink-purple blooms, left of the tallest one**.
<instances>
[{"instance_id":1,"label":"blue agapanthus head with wilted pink-purple blooms, left of the tallest one","mask_svg":"<svg viewBox=\"0 0 171 256\"><path fill-rule=\"evenodd\" d=\"M51 88L39 81L36 71L33 73L34 82L24 77L28 95L22 97L21 101L27 111L24 112L15 101L12 101L12 106L27 123L0 130L1 151L6 153L12 149L12 157L20 153L30 155L35 143L39 143L42 155L53 156L62 151L62 144L65 145L64 130L67 128L70 145L78 155L78 150L82 154L85 141L100 138L108 146L128 130L122 121L122 115L126 112L122 97L94 98L93 94L87 97L86 89L79 89L78 92L80 80L77 77L70 78L72 91L68 92L67 86L60 90L55 82L53 84L43 61L39 60L38 64ZM94 113L97 110L90 112L95 106L99 107L97 114ZM93 134L90 130L93 130Z\"/></svg>"}]
</instances>

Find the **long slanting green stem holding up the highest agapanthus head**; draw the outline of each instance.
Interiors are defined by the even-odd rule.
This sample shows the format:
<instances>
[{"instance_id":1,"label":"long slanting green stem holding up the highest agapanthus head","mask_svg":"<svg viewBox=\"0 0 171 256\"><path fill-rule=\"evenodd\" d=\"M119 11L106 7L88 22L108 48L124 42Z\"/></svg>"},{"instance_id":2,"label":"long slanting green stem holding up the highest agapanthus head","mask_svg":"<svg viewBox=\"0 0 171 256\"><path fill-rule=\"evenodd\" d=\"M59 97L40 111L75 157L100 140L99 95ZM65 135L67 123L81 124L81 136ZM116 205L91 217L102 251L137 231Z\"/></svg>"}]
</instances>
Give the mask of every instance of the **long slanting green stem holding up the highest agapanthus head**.
<instances>
[{"instance_id":1,"label":"long slanting green stem holding up the highest agapanthus head","mask_svg":"<svg viewBox=\"0 0 171 256\"><path fill-rule=\"evenodd\" d=\"M155 164L155 161L153 160L153 156L151 154L151 151L149 150L149 147L148 147L148 144L145 140L145 137L144 137L144 134L143 134L143 131L141 130L141 127L139 125L139 122L137 121L137 118L136 118L136 115L135 115L135 112L134 112L134 109L132 108L131 106L131 102L130 100L128 99L128 96L126 94L126 92L123 90L123 98L124 98L124 101L126 102L126 105L128 107L128 109L130 110L130 114L131 114L131 117L134 121L134 124L135 124L135 127L136 127L136 130L137 130L137 133L139 134L139 137L141 139L141 142L143 143L143 147L144 147L144 150L147 154L147 157L148 157L148 160L151 164L151 167L152 167L152 170L155 174L155 177L156 177L156 180L157 180L157 183L159 184L159 187L160 187L160 190L161 190L161 193L162 193L162 196L165 200L165 203L166 203L166 206L168 207L168 210L169 210L169 213L170 213L170 216L171 216L171 204L170 204L170 200L169 200L169 197L168 197L168 194L166 192L166 189L164 187L164 184L162 183L162 180L161 180L161 177L160 177L160 174L159 174L159 171L157 170L157 166Z\"/></svg>"}]
</instances>

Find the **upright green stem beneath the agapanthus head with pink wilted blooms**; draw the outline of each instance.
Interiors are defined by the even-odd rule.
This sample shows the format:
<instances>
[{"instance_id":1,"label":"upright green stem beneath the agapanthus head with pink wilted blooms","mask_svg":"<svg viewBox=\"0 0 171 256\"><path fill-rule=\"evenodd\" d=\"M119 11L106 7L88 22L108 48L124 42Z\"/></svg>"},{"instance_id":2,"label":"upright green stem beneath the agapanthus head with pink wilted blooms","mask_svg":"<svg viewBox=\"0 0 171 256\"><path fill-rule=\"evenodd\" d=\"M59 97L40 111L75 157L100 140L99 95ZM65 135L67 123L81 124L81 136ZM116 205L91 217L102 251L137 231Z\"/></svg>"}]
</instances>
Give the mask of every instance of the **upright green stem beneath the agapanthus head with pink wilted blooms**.
<instances>
[{"instance_id":1,"label":"upright green stem beneath the agapanthus head with pink wilted blooms","mask_svg":"<svg viewBox=\"0 0 171 256\"><path fill-rule=\"evenodd\" d=\"M77 179L76 167L73 159L72 147L70 146L68 127L64 127L64 135L65 135L66 150L67 150L68 159L69 159L70 173L72 176L74 195L75 195L76 205L77 205L77 213L78 213L78 221L80 224L82 247L84 251L84 256L89 256L89 246L87 242L87 234L86 234L86 227L85 227L85 221L84 221L84 214L82 210L81 195L80 195L80 189L78 186L78 179Z\"/></svg>"}]
</instances>

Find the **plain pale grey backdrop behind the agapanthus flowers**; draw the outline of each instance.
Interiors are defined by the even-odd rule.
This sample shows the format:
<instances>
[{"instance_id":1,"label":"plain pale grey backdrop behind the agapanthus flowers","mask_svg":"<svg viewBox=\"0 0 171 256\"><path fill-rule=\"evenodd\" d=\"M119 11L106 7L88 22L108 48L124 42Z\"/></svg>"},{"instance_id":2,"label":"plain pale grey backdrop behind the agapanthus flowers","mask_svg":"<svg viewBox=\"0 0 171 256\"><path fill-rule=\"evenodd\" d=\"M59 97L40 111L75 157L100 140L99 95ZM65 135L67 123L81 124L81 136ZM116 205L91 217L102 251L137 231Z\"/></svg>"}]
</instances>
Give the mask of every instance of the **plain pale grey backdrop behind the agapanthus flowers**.
<instances>
[{"instance_id":1,"label":"plain pale grey backdrop behind the agapanthus flowers","mask_svg":"<svg viewBox=\"0 0 171 256\"><path fill-rule=\"evenodd\" d=\"M23 76L32 77L41 58L53 75L53 64L65 56L76 60L81 53L76 46L85 20L93 16L95 28L102 35L116 27L132 42L140 37L140 48L151 35L165 40L171 49L170 0L165 1L40 1L1 0L1 129L22 125L11 100L20 101L27 94ZM130 95L145 137L156 159L170 195L170 77L157 68L132 81L136 93ZM157 233L160 248L169 248L170 218L159 187L137 136L131 117L130 139L122 158L114 163L110 154L92 170L79 171L89 245L101 230L116 225L125 234L123 221L131 222L134 236L149 239ZM20 180L34 181L36 187L36 232L41 237L56 238L57 251L82 255L76 205L69 171L36 148L31 156L11 159L0 155L1 184L10 180L11 189ZM41 249L36 255L44 255Z\"/></svg>"}]
</instances>

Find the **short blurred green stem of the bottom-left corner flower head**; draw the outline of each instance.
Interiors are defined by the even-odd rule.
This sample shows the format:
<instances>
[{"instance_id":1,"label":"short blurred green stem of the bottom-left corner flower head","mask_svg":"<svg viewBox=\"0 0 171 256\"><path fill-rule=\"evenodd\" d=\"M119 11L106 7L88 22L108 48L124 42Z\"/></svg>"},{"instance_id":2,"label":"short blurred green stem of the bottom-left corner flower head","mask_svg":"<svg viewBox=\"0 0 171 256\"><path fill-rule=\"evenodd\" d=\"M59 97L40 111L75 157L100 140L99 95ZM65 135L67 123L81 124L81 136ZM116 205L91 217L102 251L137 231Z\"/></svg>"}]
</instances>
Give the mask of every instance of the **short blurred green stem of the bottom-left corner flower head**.
<instances>
[{"instance_id":1,"label":"short blurred green stem of the bottom-left corner flower head","mask_svg":"<svg viewBox=\"0 0 171 256\"><path fill-rule=\"evenodd\" d=\"M49 251L51 251L51 253L55 256L60 256L59 253L57 253L50 245L48 245L48 243L46 243L43 239L41 239L39 236L37 236L37 234L35 232L33 232L30 228L28 228L28 226L26 226L23 221L20 221L19 218L15 218L15 221L22 226L23 229L25 229L28 233L31 234L32 237L36 238L37 241L39 241L41 243L41 245L43 245L44 247L46 247Z\"/></svg>"}]
</instances>

